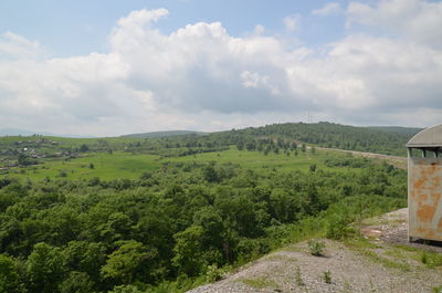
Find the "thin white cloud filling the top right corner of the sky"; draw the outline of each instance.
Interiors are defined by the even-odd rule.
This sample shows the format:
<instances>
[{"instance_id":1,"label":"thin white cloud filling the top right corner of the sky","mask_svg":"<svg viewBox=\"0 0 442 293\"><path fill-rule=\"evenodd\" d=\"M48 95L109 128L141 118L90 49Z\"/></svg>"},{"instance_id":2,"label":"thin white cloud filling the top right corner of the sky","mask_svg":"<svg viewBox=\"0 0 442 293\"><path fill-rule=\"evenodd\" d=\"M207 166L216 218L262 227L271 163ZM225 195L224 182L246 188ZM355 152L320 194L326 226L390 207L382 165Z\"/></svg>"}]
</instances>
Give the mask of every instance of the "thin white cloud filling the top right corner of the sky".
<instances>
[{"instance_id":1,"label":"thin white cloud filling the top right corner of the sky","mask_svg":"<svg viewBox=\"0 0 442 293\"><path fill-rule=\"evenodd\" d=\"M351 2L347 14L347 27L376 27L398 33L410 41L442 49L442 2L381 0L373 7Z\"/></svg>"}]
</instances>

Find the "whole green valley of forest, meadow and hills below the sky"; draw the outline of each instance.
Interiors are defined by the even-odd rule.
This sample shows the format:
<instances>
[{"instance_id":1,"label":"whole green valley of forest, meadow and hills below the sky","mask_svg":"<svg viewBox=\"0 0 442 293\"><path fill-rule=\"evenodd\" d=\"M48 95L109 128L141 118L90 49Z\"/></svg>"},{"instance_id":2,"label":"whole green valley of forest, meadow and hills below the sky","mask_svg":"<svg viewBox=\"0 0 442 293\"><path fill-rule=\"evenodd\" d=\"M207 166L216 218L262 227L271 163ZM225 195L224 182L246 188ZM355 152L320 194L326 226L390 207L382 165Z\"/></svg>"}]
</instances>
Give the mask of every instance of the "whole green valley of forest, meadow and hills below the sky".
<instances>
[{"instance_id":1,"label":"whole green valley of forest, meadow and hills below the sky","mask_svg":"<svg viewBox=\"0 0 442 293\"><path fill-rule=\"evenodd\" d=\"M314 147L337 139L393 151L407 139L358 129L0 138L0 292L185 292L293 241L355 236L362 218L407 203L404 170ZM137 179L104 179L106 163L127 159L108 167L118 176L152 154ZM91 161L78 165L83 177L51 176L76 161Z\"/></svg>"}]
</instances>

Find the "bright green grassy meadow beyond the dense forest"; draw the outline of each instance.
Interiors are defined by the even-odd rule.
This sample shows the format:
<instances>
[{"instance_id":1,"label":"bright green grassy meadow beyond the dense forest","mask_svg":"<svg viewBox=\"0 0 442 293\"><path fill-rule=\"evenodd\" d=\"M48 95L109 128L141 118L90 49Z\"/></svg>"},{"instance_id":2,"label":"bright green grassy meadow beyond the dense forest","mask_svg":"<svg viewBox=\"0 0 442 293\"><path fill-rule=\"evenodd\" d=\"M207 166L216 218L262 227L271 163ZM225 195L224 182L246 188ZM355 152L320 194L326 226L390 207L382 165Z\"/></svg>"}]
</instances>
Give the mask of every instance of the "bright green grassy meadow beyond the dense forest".
<instances>
[{"instance_id":1,"label":"bright green grassy meadow beyond the dense forest","mask_svg":"<svg viewBox=\"0 0 442 293\"><path fill-rule=\"evenodd\" d=\"M164 163L208 163L218 164L233 163L253 170L278 169L278 170L307 170L309 166L316 165L320 169L332 169L324 165L324 160L332 157L345 157L345 155L332 151L317 150L302 153L295 156L294 151L287 156L284 153L269 153L263 155L259 151L238 150L231 147L225 151L203 153L185 157L161 158L158 155L133 154L127 151L90 153L75 159L54 159L43 164L15 167L3 171L0 176L13 176L19 178L43 179L66 178L66 179L90 179L98 177L103 180L112 179L138 179L145 171L152 171ZM92 168L93 165L93 168ZM339 169L339 168L333 168Z\"/></svg>"}]
</instances>

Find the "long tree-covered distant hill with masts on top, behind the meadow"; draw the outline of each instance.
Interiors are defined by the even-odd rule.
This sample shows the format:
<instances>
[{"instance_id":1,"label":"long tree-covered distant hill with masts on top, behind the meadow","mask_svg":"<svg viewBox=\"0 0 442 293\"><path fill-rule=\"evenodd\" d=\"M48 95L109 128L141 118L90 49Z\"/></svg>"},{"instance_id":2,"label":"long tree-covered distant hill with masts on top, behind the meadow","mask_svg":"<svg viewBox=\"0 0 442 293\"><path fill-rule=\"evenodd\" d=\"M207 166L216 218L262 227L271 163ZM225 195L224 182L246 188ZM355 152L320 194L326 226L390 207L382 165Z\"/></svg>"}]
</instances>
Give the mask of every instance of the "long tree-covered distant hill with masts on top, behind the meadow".
<instances>
[{"instance_id":1,"label":"long tree-covered distant hill with masts on top, behind the meadow","mask_svg":"<svg viewBox=\"0 0 442 293\"><path fill-rule=\"evenodd\" d=\"M239 149L264 153L293 148L302 143L327 148L368 151L385 155L407 156L407 142L420 128L407 127L356 127L327 122L314 124L284 123L261 127L248 127L218 133L197 133L189 130L156 132L133 134L124 137L159 138L168 142L155 142L151 148L164 156L182 156L218 151L232 145ZM173 140L169 142L170 139ZM152 143L154 144L154 143ZM180 146L180 147L176 147Z\"/></svg>"}]
</instances>

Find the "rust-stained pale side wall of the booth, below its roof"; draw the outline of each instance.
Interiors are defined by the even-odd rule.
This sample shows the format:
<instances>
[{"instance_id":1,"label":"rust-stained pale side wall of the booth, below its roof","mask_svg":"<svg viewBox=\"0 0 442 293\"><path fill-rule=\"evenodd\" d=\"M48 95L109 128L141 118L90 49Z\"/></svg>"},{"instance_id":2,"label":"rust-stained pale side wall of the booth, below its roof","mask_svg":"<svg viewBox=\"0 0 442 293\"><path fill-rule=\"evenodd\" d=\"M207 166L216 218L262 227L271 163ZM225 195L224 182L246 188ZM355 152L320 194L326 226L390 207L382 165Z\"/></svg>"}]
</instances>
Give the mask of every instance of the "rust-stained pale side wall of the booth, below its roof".
<instances>
[{"instance_id":1,"label":"rust-stained pale side wall of the booth, below its roof","mask_svg":"<svg viewBox=\"0 0 442 293\"><path fill-rule=\"evenodd\" d=\"M442 241L442 158L409 157L409 237Z\"/></svg>"}]
</instances>

